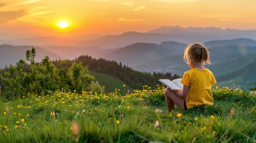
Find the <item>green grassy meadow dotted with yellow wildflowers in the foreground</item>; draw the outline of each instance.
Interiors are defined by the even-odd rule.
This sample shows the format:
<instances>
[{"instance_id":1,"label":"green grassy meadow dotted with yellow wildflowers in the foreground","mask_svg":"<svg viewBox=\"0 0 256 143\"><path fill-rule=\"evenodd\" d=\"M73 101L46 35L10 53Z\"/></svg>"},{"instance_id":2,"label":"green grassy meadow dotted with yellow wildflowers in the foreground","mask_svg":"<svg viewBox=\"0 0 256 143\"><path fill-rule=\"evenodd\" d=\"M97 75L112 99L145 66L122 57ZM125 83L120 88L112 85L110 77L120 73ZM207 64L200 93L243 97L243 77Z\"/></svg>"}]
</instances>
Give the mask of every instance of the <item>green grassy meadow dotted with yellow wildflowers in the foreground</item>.
<instances>
[{"instance_id":1,"label":"green grassy meadow dotted with yellow wildflowers in the foreground","mask_svg":"<svg viewBox=\"0 0 256 143\"><path fill-rule=\"evenodd\" d=\"M124 87L123 87L124 88ZM256 96L215 87L213 106L168 113L164 88L124 96L55 92L0 100L0 141L12 142L255 142ZM158 108L158 109L157 109Z\"/></svg>"}]
</instances>

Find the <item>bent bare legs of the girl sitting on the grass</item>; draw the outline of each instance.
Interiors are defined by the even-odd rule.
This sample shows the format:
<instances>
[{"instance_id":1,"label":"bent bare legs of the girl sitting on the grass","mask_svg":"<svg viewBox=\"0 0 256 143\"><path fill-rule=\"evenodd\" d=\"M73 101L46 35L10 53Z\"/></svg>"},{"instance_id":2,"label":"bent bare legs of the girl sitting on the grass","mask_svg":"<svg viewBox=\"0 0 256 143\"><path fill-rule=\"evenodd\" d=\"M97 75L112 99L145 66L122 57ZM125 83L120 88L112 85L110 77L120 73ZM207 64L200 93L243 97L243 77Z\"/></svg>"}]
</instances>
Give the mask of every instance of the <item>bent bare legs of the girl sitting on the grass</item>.
<instances>
[{"instance_id":1,"label":"bent bare legs of the girl sitting on the grass","mask_svg":"<svg viewBox=\"0 0 256 143\"><path fill-rule=\"evenodd\" d=\"M174 105L176 104L182 110L184 107L184 99L177 96L177 94L169 89L168 87L165 89L165 101L168 107L168 112L174 110Z\"/></svg>"}]
</instances>

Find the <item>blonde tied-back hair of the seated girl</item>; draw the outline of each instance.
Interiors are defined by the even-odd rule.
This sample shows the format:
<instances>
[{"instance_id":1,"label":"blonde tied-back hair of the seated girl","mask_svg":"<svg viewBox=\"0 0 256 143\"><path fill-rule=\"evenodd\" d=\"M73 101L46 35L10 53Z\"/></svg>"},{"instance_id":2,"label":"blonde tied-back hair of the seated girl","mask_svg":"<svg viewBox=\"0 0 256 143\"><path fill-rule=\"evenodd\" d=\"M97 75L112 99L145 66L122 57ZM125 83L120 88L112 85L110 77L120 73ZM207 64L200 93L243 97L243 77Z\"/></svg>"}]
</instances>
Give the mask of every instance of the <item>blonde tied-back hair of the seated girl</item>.
<instances>
[{"instance_id":1,"label":"blonde tied-back hair of the seated girl","mask_svg":"<svg viewBox=\"0 0 256 143\"><path fill-rule=\"evenodd\" d=\"M206 49L206 47L203 44L196 42L186 47L183 59L187 63L188 56L190 56L190 58L192 58L195 62L203 62L203 64L210 64L209 54L210 52Z\"/></svg>"}]
</instances>

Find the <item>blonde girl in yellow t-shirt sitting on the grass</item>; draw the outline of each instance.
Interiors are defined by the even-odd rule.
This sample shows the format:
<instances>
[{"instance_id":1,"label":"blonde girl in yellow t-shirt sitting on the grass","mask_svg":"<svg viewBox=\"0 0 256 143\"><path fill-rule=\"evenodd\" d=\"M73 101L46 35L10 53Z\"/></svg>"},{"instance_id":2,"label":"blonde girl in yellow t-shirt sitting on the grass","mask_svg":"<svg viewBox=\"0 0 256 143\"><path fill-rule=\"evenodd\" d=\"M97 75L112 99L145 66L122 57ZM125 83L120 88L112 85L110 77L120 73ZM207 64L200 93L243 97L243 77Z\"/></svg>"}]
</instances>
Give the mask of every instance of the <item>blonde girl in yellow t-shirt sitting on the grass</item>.
<instances>
[{"instance_id":1,"label":"blonde girl in yellow t-shirt sitting on the grass","mask_svg":"<svg viewBox=\"0 0 256 143\"><path fill-rule=\"evenodd\" d=\"M168 112L174 110L174 105L182 110L194 105L213 105L211 88L217 82L213 73L204 67L206 63L210 64L208 50L203 44L194 43L186 47L183 58L191 69L182 77L182 92L165 89Z\"/></svg>"}]
</instances>

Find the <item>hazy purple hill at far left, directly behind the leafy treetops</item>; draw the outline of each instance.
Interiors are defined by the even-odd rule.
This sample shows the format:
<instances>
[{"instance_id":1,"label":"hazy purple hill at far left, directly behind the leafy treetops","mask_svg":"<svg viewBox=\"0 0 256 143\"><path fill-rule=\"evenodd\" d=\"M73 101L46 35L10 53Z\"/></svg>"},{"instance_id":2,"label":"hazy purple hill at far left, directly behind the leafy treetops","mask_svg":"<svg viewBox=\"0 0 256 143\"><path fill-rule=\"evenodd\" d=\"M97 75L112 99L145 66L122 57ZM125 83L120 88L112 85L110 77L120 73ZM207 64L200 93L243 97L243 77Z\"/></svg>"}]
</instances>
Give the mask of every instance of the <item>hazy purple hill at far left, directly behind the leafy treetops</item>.
<instances>
[{"instance_id":1,"label":"hazy purple hill at far left, directly behind the leafy treetops","mask_svg":"<svg viewBox=\"0 0 256 143\"><path fill-rule=\"evenodd\" d=\"M50 52L41 47L34 47L37 52L35 60L37 62L41 61L45 56L49 56L51 60L64 59L64 57L59 56L53 52ZM26 58L26 51L31 49L31 46L12 46L12 45L0 45L0 67L9 66L9 64L16 64L19 59Z\"/></svg>"}]
</instances>

